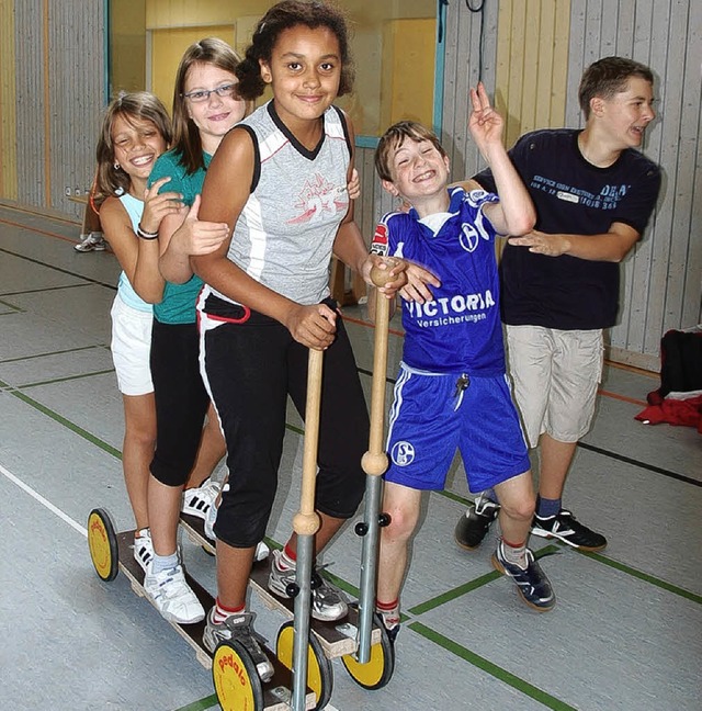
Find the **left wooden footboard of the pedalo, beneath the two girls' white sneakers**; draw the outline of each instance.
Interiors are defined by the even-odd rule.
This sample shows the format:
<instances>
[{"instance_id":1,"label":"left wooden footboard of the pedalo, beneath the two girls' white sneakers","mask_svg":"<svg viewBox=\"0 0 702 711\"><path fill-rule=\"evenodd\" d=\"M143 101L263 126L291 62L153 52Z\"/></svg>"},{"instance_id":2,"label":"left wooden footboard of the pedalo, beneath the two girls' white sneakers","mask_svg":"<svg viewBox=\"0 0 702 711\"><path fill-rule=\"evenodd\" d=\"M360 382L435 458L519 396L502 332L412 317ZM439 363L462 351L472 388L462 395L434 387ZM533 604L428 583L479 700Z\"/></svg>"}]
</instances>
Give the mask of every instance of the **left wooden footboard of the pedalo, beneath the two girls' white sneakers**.
<instances>
[{"instance_id":1,"label":"left wooden footboard of the pedalo, beneath the two girls' white sneakers","mask_svg":"<svg viewBox=\"0 0 702 711\"><path fill-rule=\"evenodd\" d=\"M129 578L132 589L136 595L146 598L150 602L150 599L144 590L144 571L134 558L134 533L135 531L122 531L116 534L120 569ZM188 575L188 573L185 573L185 579L193 592L197 596L203 608L208 610L214 605L212 595L197 580ZM211 669L212 655L205 648L202 641L205 620L195 622L194 624L179 624L170 620L168 622L194 650L197 661L206 669ZM269 654L269 658L275 672L273 678L263 685L263 709L264 711L290 711L288 701L291 697L290 689L292 688L292 674L290 669L278 661L274 654ZM305 708L314 709L316 697L313 691L308 690L305 698Z\"/></svg>"}]
</instances>

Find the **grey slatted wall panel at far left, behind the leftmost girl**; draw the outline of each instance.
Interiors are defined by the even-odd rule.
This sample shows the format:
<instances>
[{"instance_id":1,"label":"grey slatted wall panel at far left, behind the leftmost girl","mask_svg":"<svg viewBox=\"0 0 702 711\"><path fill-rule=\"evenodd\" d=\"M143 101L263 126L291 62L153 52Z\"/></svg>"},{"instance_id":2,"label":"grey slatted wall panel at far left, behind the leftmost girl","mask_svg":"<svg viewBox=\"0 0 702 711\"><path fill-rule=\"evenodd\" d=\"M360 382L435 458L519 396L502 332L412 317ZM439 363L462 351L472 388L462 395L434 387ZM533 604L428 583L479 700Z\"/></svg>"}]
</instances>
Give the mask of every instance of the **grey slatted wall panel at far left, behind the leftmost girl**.
<instances>
[{"instance_id":1,"label":"grey slatted wall panel at far left, behind the leftmost girl","mask_svg":"<svg viewBox=\"0 0 702 711\"><path fill-rule=\"evenodd\" d=\"M103 2L82 0L14 3L16 200L22 204L82 214L66 191L84 194L94 174L104 102L103 10Z\"/></svg>"}]
</instances>

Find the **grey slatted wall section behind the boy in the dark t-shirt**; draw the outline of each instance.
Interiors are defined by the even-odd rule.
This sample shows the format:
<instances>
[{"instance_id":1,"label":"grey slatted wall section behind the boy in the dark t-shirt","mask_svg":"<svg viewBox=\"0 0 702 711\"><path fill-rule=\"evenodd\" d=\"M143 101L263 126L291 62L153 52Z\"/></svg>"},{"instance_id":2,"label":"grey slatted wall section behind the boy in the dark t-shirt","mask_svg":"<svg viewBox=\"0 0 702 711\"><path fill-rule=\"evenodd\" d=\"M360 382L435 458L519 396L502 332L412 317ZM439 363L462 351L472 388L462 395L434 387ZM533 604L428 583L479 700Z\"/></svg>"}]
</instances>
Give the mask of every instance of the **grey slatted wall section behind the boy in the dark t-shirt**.
<instances>
[{"instance_id":1,"label":"grey slatted wall section behind the boy in the dark t-shirt","mask_svg":"<svg viewBox=\"0 0 702 711\"><path fill-rule=\"evenodd\" d=\"M657 119L644 153L663 169L661 194L642 240L622 266L612 357L657 370L661 335L702 319L700 61L702 8L690 0L587 0L573 4L567 125L581 126L577 84L596 59L621 55L650 66Z\"/></svg>"}]
</instances>

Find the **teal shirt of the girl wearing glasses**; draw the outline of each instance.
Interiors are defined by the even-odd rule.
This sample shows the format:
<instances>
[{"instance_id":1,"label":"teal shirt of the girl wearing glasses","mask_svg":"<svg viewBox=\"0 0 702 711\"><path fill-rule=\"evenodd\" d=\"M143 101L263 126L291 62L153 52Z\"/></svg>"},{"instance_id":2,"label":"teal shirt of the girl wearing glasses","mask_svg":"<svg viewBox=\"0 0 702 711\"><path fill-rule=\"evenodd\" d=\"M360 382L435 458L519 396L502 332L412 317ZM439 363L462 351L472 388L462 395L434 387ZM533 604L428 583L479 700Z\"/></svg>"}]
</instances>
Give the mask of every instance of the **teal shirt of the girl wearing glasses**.
<instances>
[{"instance_id":1,"label":"teal shirt of the girl wearing glasses","mask_svg":"<svg viewBox=\"0 0 702 711\"><path fill-rule=\"evenodd\" d=\"M165 153L159 157L154 166L154 170L151 170L149 187L159 178L168 176L170 181L159 192L179 192L183 195L183 202L189 206L192 205L195 198L202 192L205 171L212 160L210 154L203 154L203 157L205 160L205 169L186 174L185 169L180 163L179 156L172 150ZM191 276L184 284L166 282L161 303L154 304L154 316L161 324L194 324L195 301L202 285L202 279L195 275Z\"/></svg>"}]
</instances>

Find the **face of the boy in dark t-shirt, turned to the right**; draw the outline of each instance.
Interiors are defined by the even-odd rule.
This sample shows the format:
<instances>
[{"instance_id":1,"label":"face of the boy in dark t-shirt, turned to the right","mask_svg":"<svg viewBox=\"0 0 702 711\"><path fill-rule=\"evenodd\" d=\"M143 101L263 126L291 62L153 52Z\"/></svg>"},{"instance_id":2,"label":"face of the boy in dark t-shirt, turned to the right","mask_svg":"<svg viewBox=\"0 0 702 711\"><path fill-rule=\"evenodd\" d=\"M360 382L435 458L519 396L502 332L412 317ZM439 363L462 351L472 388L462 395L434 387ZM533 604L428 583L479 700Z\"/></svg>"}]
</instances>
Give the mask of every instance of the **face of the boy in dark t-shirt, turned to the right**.
<instances>
[{"instance_id":1,"label":"face of the boy in dark t-shirt, turned to the right","mask_svg":"<svg viewBox=\"0 0 702 711\"><path fill-rule=\"evenodd\" d=\"M642 77L631 77L624 91L609 99L596 97L590 116L607 133L613 148L638 148L646 126L655 119L653 87Z\"/></svg>"}]
</instances>

